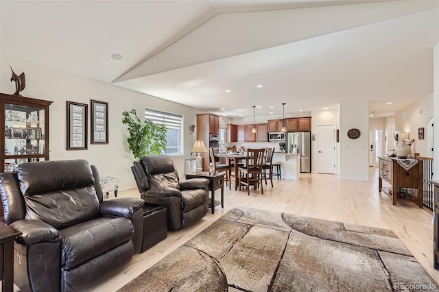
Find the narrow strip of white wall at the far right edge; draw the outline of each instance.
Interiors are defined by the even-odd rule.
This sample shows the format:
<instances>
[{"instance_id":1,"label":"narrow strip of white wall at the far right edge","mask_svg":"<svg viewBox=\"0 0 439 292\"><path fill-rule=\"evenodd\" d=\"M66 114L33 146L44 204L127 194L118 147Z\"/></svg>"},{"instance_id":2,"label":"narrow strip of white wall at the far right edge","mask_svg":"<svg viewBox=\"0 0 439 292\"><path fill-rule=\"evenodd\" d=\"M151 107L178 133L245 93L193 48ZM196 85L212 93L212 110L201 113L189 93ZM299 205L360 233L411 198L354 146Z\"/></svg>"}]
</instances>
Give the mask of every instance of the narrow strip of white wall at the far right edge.
<instances>
[{"instance_id":1,"label":"narrow strip of white wall at the far right edge","mask_svg":"<svg viewBox=\"0 0 439 292\"><path fill-rule=\"evenodd\" d=\"M436 124L439 121L439 42L434 46L434 58L433 58L433 103L434 103L434 121ZM434 145L436 145L433 152L433 178L439 180L439 127L434 127Z\"/></svg>"}]
</instances>

